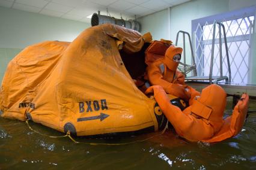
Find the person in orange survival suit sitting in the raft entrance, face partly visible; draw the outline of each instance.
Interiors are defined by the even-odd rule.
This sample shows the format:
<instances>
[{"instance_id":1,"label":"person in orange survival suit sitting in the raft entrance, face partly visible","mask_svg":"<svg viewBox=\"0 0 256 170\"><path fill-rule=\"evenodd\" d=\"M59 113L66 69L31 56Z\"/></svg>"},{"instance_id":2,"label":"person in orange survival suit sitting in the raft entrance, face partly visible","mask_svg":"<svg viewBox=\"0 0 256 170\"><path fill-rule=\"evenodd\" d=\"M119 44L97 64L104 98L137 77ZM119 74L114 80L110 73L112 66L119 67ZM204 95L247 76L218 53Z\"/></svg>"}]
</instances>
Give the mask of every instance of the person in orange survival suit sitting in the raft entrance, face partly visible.
<instances>
[{"instance_id":1,"label":"person in orange survival suit sitting in the raft entrance, face partly visible","mask_svg":"<svg viewBox=\"0 0 256 170\"><path fill-rule=\"evenodd\" d=\"M184 75L177 71L182 51L182 48L170 45L164 57L148 65L147 79L151 85L162 86L166 93L189 101L190 94L184 84Z\"/></svg>"}]
</instances>

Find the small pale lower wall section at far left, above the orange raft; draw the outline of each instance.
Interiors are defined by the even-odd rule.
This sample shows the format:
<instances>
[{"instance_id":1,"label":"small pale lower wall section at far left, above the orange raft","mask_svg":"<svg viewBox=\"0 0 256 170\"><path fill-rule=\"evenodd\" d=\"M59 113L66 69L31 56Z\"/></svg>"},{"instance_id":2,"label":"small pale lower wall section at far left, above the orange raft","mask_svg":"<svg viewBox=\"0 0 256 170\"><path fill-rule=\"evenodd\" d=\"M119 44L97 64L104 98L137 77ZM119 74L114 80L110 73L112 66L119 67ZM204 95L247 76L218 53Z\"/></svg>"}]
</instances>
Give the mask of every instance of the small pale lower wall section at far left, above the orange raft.
<instances>
[{"instance_id":1,"label":"small pale lower wall section at far left, above the orange raft","mask_svg":"<svg viewBox=\"0 0 256 170\"><path fill-rule=\"evenodd\" d=\"M22 49L19 48L0 48L0 83L4 77L5 69L13 57L16 56Z\"/></svg>"}]
</instances>

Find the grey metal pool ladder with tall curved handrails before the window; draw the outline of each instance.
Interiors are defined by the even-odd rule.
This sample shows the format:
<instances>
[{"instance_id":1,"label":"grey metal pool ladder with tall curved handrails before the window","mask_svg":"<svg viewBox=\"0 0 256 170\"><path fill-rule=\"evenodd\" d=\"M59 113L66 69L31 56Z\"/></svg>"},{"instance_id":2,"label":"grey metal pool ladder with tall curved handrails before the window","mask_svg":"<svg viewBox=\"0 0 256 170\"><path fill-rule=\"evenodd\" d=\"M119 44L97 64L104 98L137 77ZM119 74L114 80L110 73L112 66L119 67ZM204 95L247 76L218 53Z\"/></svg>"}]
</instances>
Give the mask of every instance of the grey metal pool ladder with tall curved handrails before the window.
<instances>
[{"instance_id":1,"label":"grey metal pool ladder with tall curved handrails before the window","mask_svg":"<svg viewBox=\"0 0 256 170\"><path fill-rule=\"evenodd\" d=\"M220 76L213 76L213 57L214 57L214 47L215 47L215 34L216 34L216 25L219 26L219 65L220 65ZM222 29L221 29L222 28ZM223 31L224 34L224 43L225 43L225 51L226 51L226 55L227 55L227 63L228 63L228 77L227 76L223 76L223 72L222 72L222 38L221 38L221 30ZM190 70L194 71L194 76L192 77L185 77L185 80L187 81L209 81L210 84L212 83L218 83L218 81L221 80L225 80L225 84L228 84L231 82L231 69L230 69L230 59L228 56L228 45L227 45L227 37L226 37L226 32L225 32L225 26L220 23L220 22L214 22L213 24L213 40L212 40L212 53L211 53L211 62L210 62L210 75L209 76L198 76L197 75L197 67L195 64L195 56L194 56L194 51L192 49L192 43L191 43L191 38L188 32L184 32L184 31L178 31L177 33L177 37L176 37L176 41L175 41L175 45L177 46L178 44L178 35L182 33L183 34L183 56L184 56L184 63L181 63L181 65L184 66L184 74L186 76L186 74L188 72L186 72L186 66L189 66L186 64L186 47L185 47L185 34L187 35L187 37L189 38L189 45L190 45L190 50L191 50L191 54L192 54L192 62L193 65L190 66Z\"/></svg>"}]
</instances>

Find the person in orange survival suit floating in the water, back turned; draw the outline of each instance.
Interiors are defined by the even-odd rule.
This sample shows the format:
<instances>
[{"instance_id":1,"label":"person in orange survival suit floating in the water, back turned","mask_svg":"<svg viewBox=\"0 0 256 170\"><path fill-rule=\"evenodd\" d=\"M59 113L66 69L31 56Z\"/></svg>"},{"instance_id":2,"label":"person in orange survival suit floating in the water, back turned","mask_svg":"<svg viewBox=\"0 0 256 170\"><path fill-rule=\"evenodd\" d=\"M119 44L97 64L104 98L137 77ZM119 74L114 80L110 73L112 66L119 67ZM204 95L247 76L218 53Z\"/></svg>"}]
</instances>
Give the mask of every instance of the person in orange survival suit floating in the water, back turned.
<instances>
[{"instance_id":1,"label":"person in orange survival suit floating in the water, back turned","mask_svg":"<svg viewBox=\"0 0 256 170\"><path fill-rule=\"evenodd\" d=\"M245 93L234 108L232 116L224 120L222 117L227 94L216 84L204 88L201 96L190 98L194 102L190 102L192 105L183 111L170 104L161 86L151 86L145 93L151 92L178 135L189 141L222 141L237 135L245 122L249 99Z\"/></svg>"}]
</instances>

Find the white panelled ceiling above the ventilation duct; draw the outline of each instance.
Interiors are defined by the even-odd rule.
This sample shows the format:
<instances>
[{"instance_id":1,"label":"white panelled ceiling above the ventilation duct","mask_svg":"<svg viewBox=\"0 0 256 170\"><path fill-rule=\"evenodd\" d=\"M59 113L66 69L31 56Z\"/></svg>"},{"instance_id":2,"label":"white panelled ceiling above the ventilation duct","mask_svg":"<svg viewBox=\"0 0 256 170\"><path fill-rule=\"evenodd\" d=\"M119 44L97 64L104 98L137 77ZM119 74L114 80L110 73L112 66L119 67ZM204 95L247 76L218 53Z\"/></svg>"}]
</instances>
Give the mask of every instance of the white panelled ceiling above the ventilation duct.
<instances>
[{"instance_id":1,"label":"white panelled ceiling above the ventilation duct","mask_svg":"<svg viewBox=\"0 0 256 170\"><path fill-rule=\"evenodd\" d=\"M97 11L128 20L187 1L190 0L0 0L0 6L90 23L87 16Z\"/></svg>"}]
</instances>

